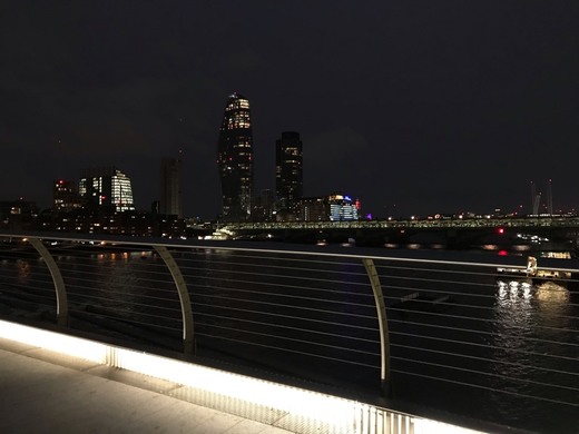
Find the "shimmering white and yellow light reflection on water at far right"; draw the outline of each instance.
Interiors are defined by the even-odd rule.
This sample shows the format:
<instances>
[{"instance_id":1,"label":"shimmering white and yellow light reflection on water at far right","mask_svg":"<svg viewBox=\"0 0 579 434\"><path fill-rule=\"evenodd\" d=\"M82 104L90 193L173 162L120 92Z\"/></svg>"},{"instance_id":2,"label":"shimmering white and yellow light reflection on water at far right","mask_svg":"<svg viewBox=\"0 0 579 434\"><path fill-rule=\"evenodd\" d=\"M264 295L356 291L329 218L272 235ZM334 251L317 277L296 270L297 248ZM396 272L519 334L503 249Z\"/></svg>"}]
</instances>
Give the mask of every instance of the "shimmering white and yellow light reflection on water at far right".
<instances>
[{"instance_id":1,"label":"shimmering white and yellow light reflection on water at far right","mask_svg":"<svg viewBox=\"0 0 579 434\"><path fill-rule=\"evenodd\" d=\"M571 407L566 405L522 397L532 395L543 400L577 401L572 391L544 386L579 386L572 364L556 358L576 357L573 347L567 342L570 337L561 332L572 326L569 290L556 282L499 280L492 319L495 361L492 371L499 376L492 383L494 388L507 392L507 395L491 394L494 411L510 421L523 421L529 412L546 413L546 406L553 406L553 413L569 411ZM524 405L521 405L521 398Z\"/></svg>"}]
</instances>

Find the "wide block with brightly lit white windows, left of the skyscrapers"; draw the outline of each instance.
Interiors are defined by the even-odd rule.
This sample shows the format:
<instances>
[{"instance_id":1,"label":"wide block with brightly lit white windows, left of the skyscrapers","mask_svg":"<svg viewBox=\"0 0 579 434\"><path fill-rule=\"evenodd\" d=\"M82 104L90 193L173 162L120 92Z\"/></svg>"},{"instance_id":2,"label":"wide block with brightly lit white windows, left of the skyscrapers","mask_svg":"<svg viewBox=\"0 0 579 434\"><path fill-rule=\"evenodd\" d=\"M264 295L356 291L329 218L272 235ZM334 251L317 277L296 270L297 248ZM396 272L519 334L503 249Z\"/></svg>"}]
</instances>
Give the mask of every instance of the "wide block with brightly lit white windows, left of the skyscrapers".
<instances>
[{"instance_id":1,"label":"wide block with brightly lit white windows, left of the skyscrapers","mask_svg":"<svg viewBox=\"0 0 579 434\"><path fill-rule=\"evenodd\" d=\"M85 208L117 213L135 210L130 178L116 167L84 170L78 191Z\"/></svg>"}]
</instances>

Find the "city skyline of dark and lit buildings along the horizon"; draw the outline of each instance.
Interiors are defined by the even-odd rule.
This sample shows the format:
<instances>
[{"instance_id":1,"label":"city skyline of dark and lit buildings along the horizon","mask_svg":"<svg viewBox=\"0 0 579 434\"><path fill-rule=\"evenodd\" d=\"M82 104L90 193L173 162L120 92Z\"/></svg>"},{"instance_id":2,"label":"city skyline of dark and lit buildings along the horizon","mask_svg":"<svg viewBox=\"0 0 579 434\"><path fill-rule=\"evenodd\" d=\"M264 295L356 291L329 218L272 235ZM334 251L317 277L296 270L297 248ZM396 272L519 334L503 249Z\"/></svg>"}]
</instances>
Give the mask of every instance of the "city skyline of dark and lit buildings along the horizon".
<instances>
[{"instance_id":1,"label":"city skyline of dark and lit buildings along the horizon","mask_svg":"<svg viewBox=\"0 0 579 434\"><path fill-rule=\"evenodd\" d=\"M150 200L149 209L153 213L176 215L183 218L185 215L183 211L181 150L179 149L177 158L161 157L160 162L158 183L160 194L156 199ZM52 180L52 208L48 209L61 211L82 207L114 207L116 211L137 210L130 178L117 167L80 169L78 186L70 179ZM253 179L253 130L249 101L237 92L229 95L225 106L217 144L217 169L222 187L222 209L215 219L224 221L355 220L373 219L377 215L372 210L362 214L360 200L352 199L352 197L362 196L362 193L350 196L334 190L324 196L303 196L303 144L300 132L295 130L282 131L281 138L276 140L275 189L266 188L256 194ZM111 177L111 179L104 181L102 179L107 177ZM547 200L542 203L542 194L537 193L536 184L531 181L532 210L527 214L538 215L540 211L549 215L557 214L553 211L551 179L548 180L547 188ZM20 197L17 200L23 200L23 198ZM340 203L336 203L338 200ZM10 200L2 201L7 204ZM330 204L332 201L334 204ZM36 201L32 203L36 207ZM314 209L315 205L321 203L325 203L321 209ZM393 208L395 209L395 205ZM514 209L511 213L503 213L497 208L490 213L432 211L428 213L425 217L518 215L522 214L523 206L519 205ZM140 206L139 210L145 211L146 208ZM569 213L575 213L575 209L566 214ZM200 213L193 213L193 215L196 214L200 215ZM400 217L392 213L377 218ZM187 218L195 217L188 216ZM406 218L424 217L410 214Z\"/></svg>"}]
</instances>

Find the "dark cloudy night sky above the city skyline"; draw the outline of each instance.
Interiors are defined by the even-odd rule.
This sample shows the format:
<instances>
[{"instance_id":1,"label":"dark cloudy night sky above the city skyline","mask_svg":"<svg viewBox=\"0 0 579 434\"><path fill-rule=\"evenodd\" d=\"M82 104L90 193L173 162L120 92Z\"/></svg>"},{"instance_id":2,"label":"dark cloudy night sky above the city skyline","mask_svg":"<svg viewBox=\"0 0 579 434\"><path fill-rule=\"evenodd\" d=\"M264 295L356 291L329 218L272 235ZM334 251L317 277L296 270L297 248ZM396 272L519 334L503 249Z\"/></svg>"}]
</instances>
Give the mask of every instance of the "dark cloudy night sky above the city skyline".
<instances>
[{"instance_id":1,"label":"dark cloudy night sky above the city skyline","mask_svg":"<svg viewBox=\"0 0 579 434\"><path fill-rule=\"evenodd\" d=\"M256 191L295 130L304 194L375 217L529 213L548 179L579 209L577 0L3 0L0 55L3 200L47 208L53 179L114 165L150 209L183 149L185 211L213 218L237 91Z\"/></svg>"}]
</instances>

